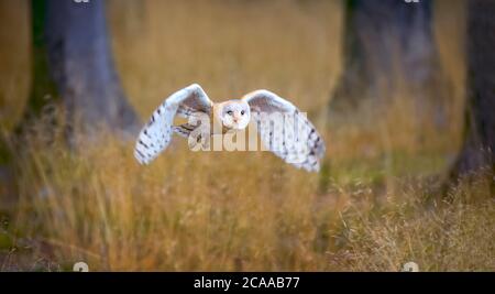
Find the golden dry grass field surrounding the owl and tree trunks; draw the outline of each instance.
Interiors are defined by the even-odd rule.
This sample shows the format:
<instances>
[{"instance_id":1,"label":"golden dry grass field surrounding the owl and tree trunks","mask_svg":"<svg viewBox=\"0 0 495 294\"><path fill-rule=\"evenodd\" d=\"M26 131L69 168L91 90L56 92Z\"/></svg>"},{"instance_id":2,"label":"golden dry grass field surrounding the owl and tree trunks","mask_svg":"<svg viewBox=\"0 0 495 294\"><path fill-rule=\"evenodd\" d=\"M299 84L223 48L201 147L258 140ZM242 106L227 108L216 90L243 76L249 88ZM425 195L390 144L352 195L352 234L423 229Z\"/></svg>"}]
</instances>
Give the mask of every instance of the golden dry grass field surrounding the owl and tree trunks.
<instances>
[{"instance_id":1,"label":"golden dry grass field surrounding the owl and tree trunks","mask_svg":"<svg viewBox=\"0 0 495 294\"><path fill-rule=\"evenodd\" d=\"M341 73L340 1L110 1L117 67L147 119L199 83L213 98L268 88L321 130L329 170L309 174L267 152L190 152L176 140L150 166L102 131L69 152L43 128L0 189L0 270L494 271L495 203L485 177L436 193L461 144L465 96L461 0L438 1L435 32L449 80L439 129L409 111L326 111ZM0 0L2 135L30 84L28 2Z\"/></svg>"}]
</instances>

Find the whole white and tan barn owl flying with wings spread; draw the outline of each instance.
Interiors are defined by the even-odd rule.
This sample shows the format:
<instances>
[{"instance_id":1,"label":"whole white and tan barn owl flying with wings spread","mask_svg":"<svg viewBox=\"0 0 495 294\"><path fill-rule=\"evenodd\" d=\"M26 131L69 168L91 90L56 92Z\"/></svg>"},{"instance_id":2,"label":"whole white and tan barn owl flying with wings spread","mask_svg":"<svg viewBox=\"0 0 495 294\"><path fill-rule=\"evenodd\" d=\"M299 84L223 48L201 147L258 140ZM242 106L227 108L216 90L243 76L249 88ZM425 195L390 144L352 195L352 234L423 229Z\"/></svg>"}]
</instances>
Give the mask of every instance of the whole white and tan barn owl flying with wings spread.
<instances>
[{"instance_id":1,"label":"whole white and tan barn owl flying with wings spread","mask_svg":"<svg viewBox=\"0 0 495 294\"><path fill-rule=\"evenodd\" d=\"M242 131L253 122L266 150L298 168L308 172L318 172L320 168L320 160L324 154L323 140L292 102L268 90L255 90L241 99L213 102L197 84L174 92L153 112L136 140L135 159L141 164L148 164L168 146L173 133L186 138L195 133L201 122L190 120L174 126L174 119L176 116L191 119L198 115L222 127L217 131L208 128L207 133L197 135L197 140L216 132Z\"/></svg>"}]
</instances>

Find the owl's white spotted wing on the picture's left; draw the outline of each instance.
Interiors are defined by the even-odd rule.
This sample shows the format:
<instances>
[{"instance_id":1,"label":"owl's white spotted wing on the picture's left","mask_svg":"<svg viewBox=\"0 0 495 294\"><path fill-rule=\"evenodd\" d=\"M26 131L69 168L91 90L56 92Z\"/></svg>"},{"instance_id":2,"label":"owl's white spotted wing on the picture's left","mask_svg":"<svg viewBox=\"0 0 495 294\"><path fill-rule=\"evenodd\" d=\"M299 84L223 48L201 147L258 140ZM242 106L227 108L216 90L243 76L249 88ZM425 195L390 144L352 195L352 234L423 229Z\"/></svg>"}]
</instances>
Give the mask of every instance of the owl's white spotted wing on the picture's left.
<instances>
[{"instance_id":1,"label":"owl's white spotted wing on the picture's left","mask_svg":"<svg viewBox=\"0 0 495 294\"><path fill-rule=\"evenodd\" d=\"M188 117L193 112L210 113L213 102L201 86L193 84L180 89L158 106L150 121L141 130L135 142L134 156L141 164L148 164L172 140L175 116Z\"/></svg>"}]
</instances>

